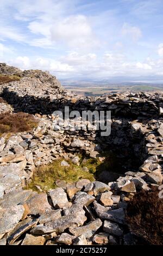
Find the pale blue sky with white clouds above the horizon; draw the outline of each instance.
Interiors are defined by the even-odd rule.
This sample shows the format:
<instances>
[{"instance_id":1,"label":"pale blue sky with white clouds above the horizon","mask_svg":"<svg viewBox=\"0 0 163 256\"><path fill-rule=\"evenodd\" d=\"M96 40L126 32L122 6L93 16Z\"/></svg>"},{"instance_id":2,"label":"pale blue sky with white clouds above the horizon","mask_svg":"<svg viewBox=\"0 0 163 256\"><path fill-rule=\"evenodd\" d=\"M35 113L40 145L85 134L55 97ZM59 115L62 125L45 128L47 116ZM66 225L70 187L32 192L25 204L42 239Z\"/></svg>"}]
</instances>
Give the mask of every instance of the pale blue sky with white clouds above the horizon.
<instances>
[{"instance_id":1,"label":"pale blue sky with white clouds above the horizon","mask_svg":"<svg viewBox=\"0 0 163 256\"><path fill-rule=\"evenodd\" d=\"M0 62L59 79L163 78L162 0L0 0Z\"/></svg>"}]
</instances>

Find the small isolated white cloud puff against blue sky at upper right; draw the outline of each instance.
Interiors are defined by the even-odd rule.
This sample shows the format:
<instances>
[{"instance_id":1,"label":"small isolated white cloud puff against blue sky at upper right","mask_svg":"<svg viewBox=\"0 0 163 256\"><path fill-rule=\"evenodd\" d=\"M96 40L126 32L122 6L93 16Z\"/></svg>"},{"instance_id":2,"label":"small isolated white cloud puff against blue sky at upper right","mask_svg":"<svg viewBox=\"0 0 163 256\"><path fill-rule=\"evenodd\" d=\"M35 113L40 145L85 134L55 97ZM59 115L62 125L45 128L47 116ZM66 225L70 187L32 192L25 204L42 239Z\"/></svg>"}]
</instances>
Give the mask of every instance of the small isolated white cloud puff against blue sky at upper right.
<instances>
[{"instance_id":1,"label":"small isolated white cloud puff against blue sky at upper right","mask_svg":"<svg viewBox=\"0 0 163 256\"><path fill-rule=\"evenodd\" d=\"M137 41L142 37L142 32L139 27L131 26L129 23L125 22L122 27L122 35Z\"/></svg>"}]
</instances>

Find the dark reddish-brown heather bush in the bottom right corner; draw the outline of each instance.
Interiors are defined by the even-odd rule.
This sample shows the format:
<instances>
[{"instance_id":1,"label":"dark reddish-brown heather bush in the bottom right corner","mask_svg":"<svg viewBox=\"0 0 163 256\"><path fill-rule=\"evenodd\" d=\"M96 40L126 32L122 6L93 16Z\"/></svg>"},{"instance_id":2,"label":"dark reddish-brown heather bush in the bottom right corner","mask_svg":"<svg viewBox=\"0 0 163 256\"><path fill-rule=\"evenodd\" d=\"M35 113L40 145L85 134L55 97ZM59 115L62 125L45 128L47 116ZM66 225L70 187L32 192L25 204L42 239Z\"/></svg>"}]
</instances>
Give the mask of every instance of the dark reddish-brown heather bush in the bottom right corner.
<instances>
[{"instance_id":1,"label":"dark reddish-brown heather bush in the bottom right corner","mask_svg":"<svg viewBox=\"0 0 163 256\"><path fill-rule=\"evenodd\" d=\"M149 245L163 245L163 199L158 190L135 194L127 208L131 231Z\"/></svg>"}]
</instances>

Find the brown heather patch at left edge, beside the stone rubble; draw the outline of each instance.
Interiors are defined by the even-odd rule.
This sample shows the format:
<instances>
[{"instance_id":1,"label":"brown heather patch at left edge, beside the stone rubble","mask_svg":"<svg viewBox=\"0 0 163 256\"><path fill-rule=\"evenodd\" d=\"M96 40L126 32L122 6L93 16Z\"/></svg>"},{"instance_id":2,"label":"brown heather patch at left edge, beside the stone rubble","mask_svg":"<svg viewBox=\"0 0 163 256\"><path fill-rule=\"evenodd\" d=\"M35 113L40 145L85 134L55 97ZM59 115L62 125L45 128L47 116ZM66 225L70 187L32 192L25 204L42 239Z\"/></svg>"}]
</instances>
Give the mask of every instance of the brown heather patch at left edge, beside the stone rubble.
<instances>
[{"instance_id":1,"label":"brown heather patch at left edge, beside the stone rubble","mask_svg":"<svg viewBox=\"0 0 163 256\"><path fill-rule=\"evenodd\" d=\"M29 131L36 126L37 120L33 115L23 112L0 114L0 135Z\"/></svg>"}]
</instances>

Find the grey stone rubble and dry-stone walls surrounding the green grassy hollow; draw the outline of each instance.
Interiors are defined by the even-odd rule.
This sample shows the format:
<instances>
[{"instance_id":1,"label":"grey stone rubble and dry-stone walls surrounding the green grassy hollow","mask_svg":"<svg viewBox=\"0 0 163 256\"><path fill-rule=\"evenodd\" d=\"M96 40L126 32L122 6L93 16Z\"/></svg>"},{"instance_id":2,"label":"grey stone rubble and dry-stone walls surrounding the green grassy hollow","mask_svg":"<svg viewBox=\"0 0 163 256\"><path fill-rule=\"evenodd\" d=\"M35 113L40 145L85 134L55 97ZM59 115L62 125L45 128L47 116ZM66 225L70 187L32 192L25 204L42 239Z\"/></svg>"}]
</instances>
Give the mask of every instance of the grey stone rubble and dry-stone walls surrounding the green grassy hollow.
<instances>
[{"instance_id":1,"label":"grey stone rubble and dry-stone walls surrounding the green grassy hollow","mask_svg":"<svg viewBox=\"0 0 163 256\"><path fill-rule=\"evenodd\" d=\"M22 72L0 64L1 74L17 75L20 80L0 86L0 115L23 110L34 114L38 125L30 132L4 133L0 138L0 244L136 244L137 237L126 223L126 207L139 190L162 184L163 95L78 98L46 72ZM65 105L71 110L111 110L110 136L100 136L81 118L64 121L52 115ZM70 130L65 130L67 123ZM77 130L81 123L86 128ZM72 161L79 166L79 154L103 163L107 150L120 150L117 159L128 158L126 171L118 178L104 170L107 183L79 178L73 183L54 181L57 188L48 192L39 186L39 192L24 189L38 166L60 158L61 165ZM130 162L131 156L139 166Z\"/></svg>"}]
</instances>

